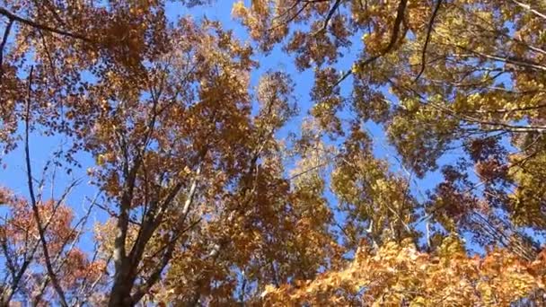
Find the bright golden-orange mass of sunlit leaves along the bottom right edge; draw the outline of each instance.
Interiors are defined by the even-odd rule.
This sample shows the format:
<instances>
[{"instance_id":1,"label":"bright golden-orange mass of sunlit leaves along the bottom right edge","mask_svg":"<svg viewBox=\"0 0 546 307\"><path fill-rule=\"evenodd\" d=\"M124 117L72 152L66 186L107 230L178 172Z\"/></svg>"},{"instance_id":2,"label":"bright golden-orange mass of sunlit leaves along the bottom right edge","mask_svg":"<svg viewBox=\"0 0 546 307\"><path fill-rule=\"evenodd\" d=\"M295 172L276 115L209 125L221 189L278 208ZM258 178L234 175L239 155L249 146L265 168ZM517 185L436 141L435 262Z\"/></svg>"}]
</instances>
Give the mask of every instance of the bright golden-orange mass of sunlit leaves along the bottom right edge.
<instances>
[{"instance_id":1,"label":"bright golden-orange mass of sunlit leaves along the bottom right edge","mask_svg":"<svg viewBox=\"0 0 546 307\"><path fill-rule=\"evenodd\" d=\"M446 242L441 249L449 251L435 257L411 246L386 242L374 254L357 254L348 268L298 287L268 286L262 297L272 305L304 302L506 305L544 286L542 276L529 274L524 269L526 264L506 250L494 250L483 259L473 259L458 248L453 250L455 241Z\"/></svg>"}]
</instances>

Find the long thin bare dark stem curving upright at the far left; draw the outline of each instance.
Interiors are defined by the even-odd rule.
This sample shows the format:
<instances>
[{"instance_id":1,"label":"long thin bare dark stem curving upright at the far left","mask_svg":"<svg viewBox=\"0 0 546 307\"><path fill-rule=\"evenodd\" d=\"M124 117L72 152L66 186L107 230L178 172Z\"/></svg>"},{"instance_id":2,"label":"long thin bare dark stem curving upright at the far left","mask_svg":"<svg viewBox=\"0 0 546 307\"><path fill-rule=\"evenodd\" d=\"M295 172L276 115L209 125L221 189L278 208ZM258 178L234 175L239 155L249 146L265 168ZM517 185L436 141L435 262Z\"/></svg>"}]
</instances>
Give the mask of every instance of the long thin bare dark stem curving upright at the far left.
<instances>
[{"instance_id":1,"label":"long thin bare dark stem curving upright at the far left","mask_svg":"<svg viewBox=\"0 0 546 307\"><path fill-rule=\"evenodd\" d=\"M2 13L0 8L0 13ZM34 71L34 66L31 66L31 73L29 75L29 90L28 90L28 98L27 98L27 108L26 108L26 116L25 116L25 138L24 138L24 153L25 153L25 162L27 167L27 182L29 187L29 194L31 195L31 206L32 206L32 212L34 215L34 220L36 221L36 227L38 228L38 232L40 235L40 242L44 253L44 261L46 262L46 268L48 270L48 276L51 279L51 283L53 284L53 287L55 288L55 292L57 292L57 295L60 300L60 304L63 307L68 307L68 303L66 303L65 294L63 292L63 289L58 283L57 276L55 275L55 272L53 270L53 266L51 265L51 259L49 257L49 250L48 250L48 242L46 241L46 233L44 231L44 228L41 224L41 218L40 218L40 211L38 208L38 202L36 201L36 196L34 195L34 187L32 184L32 169L31 169L31 151L30 151L30 145L29 145L29 130L30 130L30 121L31 121L31 87L32 87L32 73Z\"/></svg>"}]
</instances>

